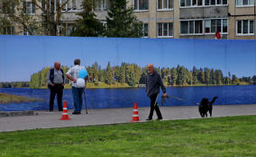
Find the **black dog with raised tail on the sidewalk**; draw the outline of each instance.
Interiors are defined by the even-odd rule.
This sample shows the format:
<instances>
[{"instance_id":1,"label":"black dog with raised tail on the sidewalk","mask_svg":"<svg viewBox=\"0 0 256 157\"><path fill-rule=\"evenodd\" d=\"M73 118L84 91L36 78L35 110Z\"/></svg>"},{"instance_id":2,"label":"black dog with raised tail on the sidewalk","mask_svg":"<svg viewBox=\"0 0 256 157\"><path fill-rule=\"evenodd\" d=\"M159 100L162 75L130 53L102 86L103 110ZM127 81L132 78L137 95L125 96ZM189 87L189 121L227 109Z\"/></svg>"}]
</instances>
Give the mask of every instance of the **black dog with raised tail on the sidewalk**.
<instances>
[{"instance_id":1,"label":"black dog with raised tail on the sidewalk","mask_svg":"<svg viewBox=\"0 0 256 157\"><path fill-rule=\"evenodd\" d=\"M209 102L209 100L207 98L203 98L203 100L201 100L199 106L198 106L198 110L199 113L201 115L202 118L207 118L207 112L209 111L210 116L212 117L212 111L213 111L213 103L215 102L215 100L218 97L215 97L212 101Z\"/></svg>"}]
</instances>

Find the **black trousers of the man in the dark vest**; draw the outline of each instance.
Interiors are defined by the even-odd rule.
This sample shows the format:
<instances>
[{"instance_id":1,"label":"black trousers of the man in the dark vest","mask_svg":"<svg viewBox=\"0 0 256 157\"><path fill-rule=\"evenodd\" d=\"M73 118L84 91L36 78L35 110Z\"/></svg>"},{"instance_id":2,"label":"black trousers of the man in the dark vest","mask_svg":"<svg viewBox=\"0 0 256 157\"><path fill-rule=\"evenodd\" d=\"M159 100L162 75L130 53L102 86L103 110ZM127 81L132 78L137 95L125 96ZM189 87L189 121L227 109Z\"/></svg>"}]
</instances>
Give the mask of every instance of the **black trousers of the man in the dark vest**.
<instances>
[{"instance_id":1,"label":"black trousers of the man in the dark vest","mask_svg":"<svg viewBox=\"0 0 256 157\"><path fill-rule=\"evenodd\" d=\"M59 111L62 110L62 95L63 95L63 85L55 84L50 87L50 110L53 110L53 104L55 95L57 94L58 108Z\"/></svg>"}]
</instances>

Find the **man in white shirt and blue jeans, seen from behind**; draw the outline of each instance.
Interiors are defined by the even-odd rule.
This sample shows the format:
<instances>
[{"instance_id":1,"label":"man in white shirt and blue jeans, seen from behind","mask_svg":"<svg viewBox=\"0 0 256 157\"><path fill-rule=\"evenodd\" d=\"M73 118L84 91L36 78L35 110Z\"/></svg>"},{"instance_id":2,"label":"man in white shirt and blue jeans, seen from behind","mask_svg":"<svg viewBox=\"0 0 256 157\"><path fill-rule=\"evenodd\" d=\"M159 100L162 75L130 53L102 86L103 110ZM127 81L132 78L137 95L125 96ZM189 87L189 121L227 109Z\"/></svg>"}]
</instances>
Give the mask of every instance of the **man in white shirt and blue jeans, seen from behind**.
<instances>
[{"instance_id":1,"label":"man in white shirt and blue jeans, seen from behind","mask_svg":"<svg viewBox=\"0 0 256 157\"><path fill-rule=\"evenodd\" d=\"M73 101L74 101L74 112L72 114L78 115L81 114L81 109L83 105L82 100L82 94L85 91L85 87L79 87L77 84L78 79L78 73L80 70L86 68L84 66L80 65L80 59L75 59L74 66L69 69L69 72L66 74L66 76L69 78L69 80L72 81L72 95L73 95ZM85 79L85 86L87 85L87 77L83 78Z\"/></svg>"}]
</instances>

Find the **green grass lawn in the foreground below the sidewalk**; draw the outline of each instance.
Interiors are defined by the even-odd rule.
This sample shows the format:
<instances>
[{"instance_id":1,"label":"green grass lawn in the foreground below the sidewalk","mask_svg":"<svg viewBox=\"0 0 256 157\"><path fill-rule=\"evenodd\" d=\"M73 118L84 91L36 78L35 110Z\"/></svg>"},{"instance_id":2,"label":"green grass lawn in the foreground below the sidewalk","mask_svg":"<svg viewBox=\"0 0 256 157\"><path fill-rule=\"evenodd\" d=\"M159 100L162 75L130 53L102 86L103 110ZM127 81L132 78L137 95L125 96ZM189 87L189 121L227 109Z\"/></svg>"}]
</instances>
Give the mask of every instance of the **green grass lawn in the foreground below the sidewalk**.
<instances>
[{"instance_id":1,"label":"green grass lawn in the foreground below the sidewalk","mask_svg":"<svg viewBox=\"0 0 256 157\"><path fill-rule=\"evenodd\" d=\"M6 132L0 156L255 157L256 116Z\"/></svg>"}]
</instances>

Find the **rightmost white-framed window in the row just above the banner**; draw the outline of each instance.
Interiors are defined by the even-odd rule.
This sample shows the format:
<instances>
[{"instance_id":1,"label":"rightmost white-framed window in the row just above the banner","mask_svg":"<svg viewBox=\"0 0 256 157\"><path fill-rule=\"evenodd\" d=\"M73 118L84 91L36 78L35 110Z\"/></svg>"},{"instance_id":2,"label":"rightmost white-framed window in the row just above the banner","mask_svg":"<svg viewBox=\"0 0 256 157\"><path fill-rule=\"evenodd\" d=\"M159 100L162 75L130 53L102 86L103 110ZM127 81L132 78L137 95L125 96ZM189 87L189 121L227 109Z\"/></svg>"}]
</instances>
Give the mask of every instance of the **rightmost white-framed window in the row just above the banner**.
<instances>
[{"instance_id":1,"label":"rightmost white-framed window in the row just above the banner","mask_svg":"<svg viewBox=\"0 0 256 157\"><path fill-rule=\"evenodd\" d=\"M254 21L240 20L236 21L237 35L254 35Z\"/></svg>"}]
</instances>

